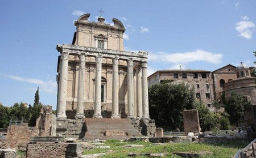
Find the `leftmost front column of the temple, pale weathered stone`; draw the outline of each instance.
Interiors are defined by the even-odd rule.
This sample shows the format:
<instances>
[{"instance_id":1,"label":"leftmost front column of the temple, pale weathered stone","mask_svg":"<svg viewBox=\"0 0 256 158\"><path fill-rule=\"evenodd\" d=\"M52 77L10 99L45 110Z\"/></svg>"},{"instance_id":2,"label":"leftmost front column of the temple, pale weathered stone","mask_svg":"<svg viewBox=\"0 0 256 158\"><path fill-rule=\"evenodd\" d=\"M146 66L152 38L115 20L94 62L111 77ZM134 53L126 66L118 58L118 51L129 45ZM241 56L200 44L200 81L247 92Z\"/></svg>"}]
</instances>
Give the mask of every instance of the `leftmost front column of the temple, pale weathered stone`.
<instances>
[{"instance_id":1,"label":"leftmost front column of the temple, pale weathered stone","mask_svg":"<svg viewBox=\"0 0 256 158\"><path fill-rule=\"evenodd\" d=\"M68 82L68 53L61 54L61 68L59 78L59 89L57 99L57 118L65 119L66 116L66 101L67 101L67 82Z\"/></svg>"}]
</instances>

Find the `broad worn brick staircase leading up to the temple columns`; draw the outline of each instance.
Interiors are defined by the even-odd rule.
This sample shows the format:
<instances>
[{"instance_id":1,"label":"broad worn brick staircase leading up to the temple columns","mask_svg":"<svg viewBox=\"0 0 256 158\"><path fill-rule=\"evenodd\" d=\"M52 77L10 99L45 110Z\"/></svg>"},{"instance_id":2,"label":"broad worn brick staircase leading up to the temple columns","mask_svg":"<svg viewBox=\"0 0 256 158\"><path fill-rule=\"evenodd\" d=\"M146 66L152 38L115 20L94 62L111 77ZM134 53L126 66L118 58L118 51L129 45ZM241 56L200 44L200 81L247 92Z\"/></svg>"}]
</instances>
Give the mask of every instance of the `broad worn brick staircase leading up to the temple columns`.
<instances>
[{"instance_id":1,"label":"broad worn brick staircase leading up to the temple columns","mask_svg":"<svg viewBox=\"0 0 256 158\"><path fill-rule=\"evenodd\" d=\"M125 139L142 136L127 118L85 118L85 139Z\"/></svg>"}]
</instances>

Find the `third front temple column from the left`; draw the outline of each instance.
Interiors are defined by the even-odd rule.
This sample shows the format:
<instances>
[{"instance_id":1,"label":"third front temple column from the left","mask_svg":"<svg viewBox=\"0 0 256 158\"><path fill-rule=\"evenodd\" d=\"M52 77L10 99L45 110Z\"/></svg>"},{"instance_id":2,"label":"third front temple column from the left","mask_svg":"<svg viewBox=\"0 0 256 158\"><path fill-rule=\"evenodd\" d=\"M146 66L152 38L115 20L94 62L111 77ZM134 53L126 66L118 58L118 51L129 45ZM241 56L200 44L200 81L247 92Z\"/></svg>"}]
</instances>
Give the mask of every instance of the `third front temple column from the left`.
<instances>
[{"instance_id":1,"label":"third front temple column from the left","mask_svg":"<svg viewBox=\"0 0 256 158\"><path fill-rule=\"evenodd\" d=\"M96 57L96 76L95 76L95 96L94 96L94 114L95 118L102 118L101 116L101 63L102 55Z\"/></svg>"}]
</instances>

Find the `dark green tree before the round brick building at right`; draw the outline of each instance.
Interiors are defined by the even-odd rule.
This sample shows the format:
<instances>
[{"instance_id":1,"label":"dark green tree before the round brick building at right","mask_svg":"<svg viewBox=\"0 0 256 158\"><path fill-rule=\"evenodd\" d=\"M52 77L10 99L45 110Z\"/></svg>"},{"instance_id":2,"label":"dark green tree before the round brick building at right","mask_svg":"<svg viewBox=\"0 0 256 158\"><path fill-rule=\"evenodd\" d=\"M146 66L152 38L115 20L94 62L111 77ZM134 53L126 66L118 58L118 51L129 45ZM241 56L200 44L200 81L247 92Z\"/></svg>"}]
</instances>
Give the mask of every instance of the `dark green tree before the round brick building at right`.
<instances>
[{"instance_id":1,"label":"dark green tree before the round brick building at right","mask_svg":"<svg viewBox=\"0 0 256 158\"><path fill-rule=\"evenodd\" d=\"M232 125L238 126L243 121L245 109L251 105L245 97L232 93L231 98L225 105L225 111L229 114Z\"/></svg>"}]
</instances>

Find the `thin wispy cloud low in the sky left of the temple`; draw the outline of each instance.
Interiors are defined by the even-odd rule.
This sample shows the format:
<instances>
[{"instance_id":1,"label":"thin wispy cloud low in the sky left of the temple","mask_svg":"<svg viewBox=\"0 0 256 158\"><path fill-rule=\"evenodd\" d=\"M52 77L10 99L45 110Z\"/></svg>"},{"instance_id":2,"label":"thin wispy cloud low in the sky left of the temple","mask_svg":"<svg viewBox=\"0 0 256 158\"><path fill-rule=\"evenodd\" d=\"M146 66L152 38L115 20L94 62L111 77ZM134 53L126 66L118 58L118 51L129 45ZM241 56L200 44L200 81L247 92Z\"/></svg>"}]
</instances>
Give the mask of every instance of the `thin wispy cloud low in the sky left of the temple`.
<instances>
[{"instance_id":1,"label":"thin wispy cloud low in the sky left of the temple","mask_svg":"<svg viewBox=\"0 0 256 158\"><path fill-rule=\"evenodd\" d=\"M55 94L57 93L57 83L53 82L52 80L48 80L47 82L45 82L40 79L23 78L23 77L14 76L14 75L5 75L5 76L6 76L6 78L9 78L11 80L17 80L20 82L36 84L44 92L55 93Z\"/></svg>"}]
</instances>

